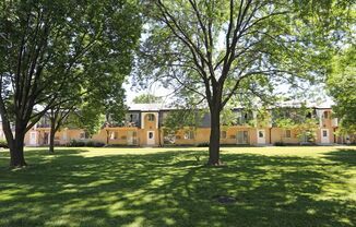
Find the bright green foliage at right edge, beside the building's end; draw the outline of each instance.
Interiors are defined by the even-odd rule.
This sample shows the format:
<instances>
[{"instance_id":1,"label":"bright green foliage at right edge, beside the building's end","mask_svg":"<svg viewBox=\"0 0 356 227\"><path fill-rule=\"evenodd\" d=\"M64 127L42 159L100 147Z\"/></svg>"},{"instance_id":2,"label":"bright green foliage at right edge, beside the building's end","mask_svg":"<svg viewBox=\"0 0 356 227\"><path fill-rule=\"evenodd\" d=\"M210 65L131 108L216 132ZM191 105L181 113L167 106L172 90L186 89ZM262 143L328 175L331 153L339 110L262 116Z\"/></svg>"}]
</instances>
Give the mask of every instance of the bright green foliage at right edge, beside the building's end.
<instances>
[{"instance_id":1,"label":"bright green foliage at right edge, beside the building's end","mask_svg":"<svg viewBox=\"0 0 356 227\"><path fill-rule=\"evenodd\" d=\"M327 85L335 100L333 111L339 118L340 134L356 133L356 45L349 46L332 60Z\"/></svg>"}]
</instances>

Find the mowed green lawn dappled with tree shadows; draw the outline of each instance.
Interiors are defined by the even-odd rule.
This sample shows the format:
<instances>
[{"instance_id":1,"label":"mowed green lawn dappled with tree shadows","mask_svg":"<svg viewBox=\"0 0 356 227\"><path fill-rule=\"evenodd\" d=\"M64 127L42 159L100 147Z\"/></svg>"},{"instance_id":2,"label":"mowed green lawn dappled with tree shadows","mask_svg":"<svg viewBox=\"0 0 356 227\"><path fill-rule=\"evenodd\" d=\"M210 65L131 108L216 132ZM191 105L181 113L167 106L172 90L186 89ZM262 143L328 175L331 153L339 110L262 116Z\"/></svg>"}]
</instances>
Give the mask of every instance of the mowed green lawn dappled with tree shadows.
<instances>
[{"instance_id":1,"label":"mowed green lawn dappled with tree shadows","mask_svg":"<svg viewBox=\"0 0 356 227\"><path fill-rule=\"evenodd\" d=\"M0 152L0 226L355 226L356 147ZM219 203L217 196L236 201Z\"/></svg>"}]
</instances>

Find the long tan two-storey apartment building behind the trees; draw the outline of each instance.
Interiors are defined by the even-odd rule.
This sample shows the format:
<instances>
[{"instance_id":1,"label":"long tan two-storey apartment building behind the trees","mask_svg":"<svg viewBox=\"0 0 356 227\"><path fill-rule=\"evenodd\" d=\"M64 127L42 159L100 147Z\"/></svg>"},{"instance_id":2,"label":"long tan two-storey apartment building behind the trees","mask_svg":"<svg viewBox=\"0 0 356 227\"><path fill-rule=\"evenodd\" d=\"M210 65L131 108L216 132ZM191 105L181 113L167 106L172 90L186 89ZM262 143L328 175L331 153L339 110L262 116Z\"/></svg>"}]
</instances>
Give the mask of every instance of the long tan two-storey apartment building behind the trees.
<instances>
[{"instance_id":1,"label":"long tan two-storey apartment building behind the trees","mask_svg":"<svg viewBox=\"0 0 356 227\"><path fill-rule=\"evenodd\" d=\"M295 108L295 107L294 107ZM315 130L316 144L347 143L349 139L335 135L337 119L332 118L330 107L311 107L318 128ZM287 108L290 112L293 108ZM175 109L166 108L159 104L132 105L121 123L106 123L91 138L83 129L64 128L56 133L55 143L66 145L71 141L97 142L106 145L122 146L164 146L164 145L202 145L210 140L210 116L204 113L201 122L194 128L182 128L175 133L167 133L165 118ZM276 143L304 144L309 143L307 136L300 136L296 130L281 129L273 122L273 109L268 110L272 117L263 127L251 124L257 119L253 111L241 108L233 109L234 123L221 127L221 144L226 145L273 145ZM44 119L29 130L25 138L27 146L43 146L49 143L49 122Z\"/></svg>"}]
</instances>

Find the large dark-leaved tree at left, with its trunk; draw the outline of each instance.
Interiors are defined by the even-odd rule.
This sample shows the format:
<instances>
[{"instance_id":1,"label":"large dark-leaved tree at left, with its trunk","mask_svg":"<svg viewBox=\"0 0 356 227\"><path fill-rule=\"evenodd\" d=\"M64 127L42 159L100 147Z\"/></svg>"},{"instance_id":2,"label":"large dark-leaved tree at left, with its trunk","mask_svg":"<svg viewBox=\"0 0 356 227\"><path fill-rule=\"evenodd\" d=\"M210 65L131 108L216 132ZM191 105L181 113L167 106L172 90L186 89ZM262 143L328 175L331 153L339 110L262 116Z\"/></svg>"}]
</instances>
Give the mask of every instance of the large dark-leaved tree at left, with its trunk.
<instances>
[{"instance_id":1,"label":"large dark-leaved tree at left, with its trunk","mask_svg":"<svg viewBox=\"0 0 356 227\"><path fill-rule=\"evenodd\" d=\"M67 101L61 91L100 89L130 72L140 14L115 0L4 0L0 9L0 113L10 165L24 166L25 133Z\"/></svg>"}]
</instances>

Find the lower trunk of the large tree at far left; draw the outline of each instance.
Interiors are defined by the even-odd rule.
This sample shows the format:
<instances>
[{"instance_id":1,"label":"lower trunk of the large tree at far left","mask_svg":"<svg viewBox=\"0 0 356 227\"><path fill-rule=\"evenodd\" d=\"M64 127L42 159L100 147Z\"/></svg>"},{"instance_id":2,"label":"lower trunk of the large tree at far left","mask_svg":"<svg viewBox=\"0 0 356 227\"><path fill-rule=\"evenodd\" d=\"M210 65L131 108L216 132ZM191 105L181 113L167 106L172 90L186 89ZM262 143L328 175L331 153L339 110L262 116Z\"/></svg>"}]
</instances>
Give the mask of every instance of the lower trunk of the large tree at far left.
<instances>
[{"instance_id":1,"label":"lower trunk of the large tree at far left","mask_svg":"<svg viewBox=\"0 0 356 227\"><path fill-rule=\"evenodd\" d=\"M10 167L24 167L27 165L24 157L24 130L16 130L15 139L10 142Z\"/></svg>"}]
</instances>

